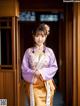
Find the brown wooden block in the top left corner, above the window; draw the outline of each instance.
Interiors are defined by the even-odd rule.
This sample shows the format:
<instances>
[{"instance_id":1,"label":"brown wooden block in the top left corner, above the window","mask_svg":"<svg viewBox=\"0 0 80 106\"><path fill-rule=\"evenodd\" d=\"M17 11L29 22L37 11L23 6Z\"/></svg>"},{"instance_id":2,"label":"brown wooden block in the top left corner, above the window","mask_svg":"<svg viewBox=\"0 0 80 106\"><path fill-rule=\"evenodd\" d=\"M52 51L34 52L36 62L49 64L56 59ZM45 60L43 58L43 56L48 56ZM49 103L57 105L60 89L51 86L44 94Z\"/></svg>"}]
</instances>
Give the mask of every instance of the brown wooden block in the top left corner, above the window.
<instances>
[{"instance_id":1,"label":"brown wooden block in the top left corner, above the window","mask_svg":"<svg viewBox=\"0 0 80 106\"><path fill-rule=\"evenodd\" d=\"M0 17L18 16L19 5L17 0L0 0Z\"/></svg>"}]
</instances>

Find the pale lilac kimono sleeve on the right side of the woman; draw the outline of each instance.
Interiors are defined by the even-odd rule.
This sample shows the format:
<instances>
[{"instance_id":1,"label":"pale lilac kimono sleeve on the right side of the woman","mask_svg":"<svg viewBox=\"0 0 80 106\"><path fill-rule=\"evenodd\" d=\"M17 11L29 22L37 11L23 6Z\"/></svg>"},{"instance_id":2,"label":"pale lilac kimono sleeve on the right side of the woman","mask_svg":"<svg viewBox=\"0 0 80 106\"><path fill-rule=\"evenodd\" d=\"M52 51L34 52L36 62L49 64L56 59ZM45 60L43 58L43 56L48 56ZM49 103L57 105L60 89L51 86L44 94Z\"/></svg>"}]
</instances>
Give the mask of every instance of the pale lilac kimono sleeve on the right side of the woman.
<instances>
[{"instance_id":1,"label":"pale lilac kimono sleeve on the right side of the woman","mask_svg":"<svg viewBox=\"0 0 80 106\"><path fill-rule=\"evenodd\" d=\"M39 70L39 72L41 73L44 80L52 79L58 70L56 57L55 57L52 49L49 49L49 54L50 54L50 57L49 57L50 62L49 62L48 67L44 67Z\"/></svg>"}]
</instances>

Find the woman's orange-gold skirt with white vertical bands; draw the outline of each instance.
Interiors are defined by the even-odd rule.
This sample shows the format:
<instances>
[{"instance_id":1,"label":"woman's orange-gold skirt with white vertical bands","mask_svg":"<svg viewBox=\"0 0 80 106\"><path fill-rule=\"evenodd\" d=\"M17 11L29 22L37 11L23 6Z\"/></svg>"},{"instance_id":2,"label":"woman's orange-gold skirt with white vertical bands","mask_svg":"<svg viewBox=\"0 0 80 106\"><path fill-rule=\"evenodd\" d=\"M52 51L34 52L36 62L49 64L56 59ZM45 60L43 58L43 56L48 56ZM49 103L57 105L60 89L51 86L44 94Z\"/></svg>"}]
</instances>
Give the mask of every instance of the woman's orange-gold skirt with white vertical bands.
<instances>
[{"instance_id":1,"label":"woman's orange-gold skirt with white vertical bands","mask_svg":"<svg viewBox=\"0 0 80 106\"><path fill-rule=\"evenodd\" d=\"M47 84L49 85L47 86ZM53 88L51 88L51 86L53 86ZM38 80L38 84L26 82L26 95L29 99L29 106L53 106L54 91L55 86L52 84L52 80L49 80L49 83Z\"/></svg>"}]
</instances>

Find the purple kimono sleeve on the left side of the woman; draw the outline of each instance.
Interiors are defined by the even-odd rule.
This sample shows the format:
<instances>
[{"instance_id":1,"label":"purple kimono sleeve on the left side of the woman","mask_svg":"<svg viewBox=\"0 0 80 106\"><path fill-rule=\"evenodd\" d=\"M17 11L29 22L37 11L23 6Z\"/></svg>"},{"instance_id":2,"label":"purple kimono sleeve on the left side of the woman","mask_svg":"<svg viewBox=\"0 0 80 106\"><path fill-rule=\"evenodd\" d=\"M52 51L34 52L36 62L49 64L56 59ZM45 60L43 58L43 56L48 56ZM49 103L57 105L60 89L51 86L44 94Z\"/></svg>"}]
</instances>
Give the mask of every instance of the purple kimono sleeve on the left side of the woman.
<instances>
[{"instance_id":1,"label":"purple kimono sleeve on the left side of the woman","mask_svg":"<svg viewBox=\"0 0 80 106\"><path fill-rule=\"evenodd\" d=\"M22 77L25 81L33 83L34 70L29 67L29 52L26 50L22 60Z\"/></svg>"}]
</instances>

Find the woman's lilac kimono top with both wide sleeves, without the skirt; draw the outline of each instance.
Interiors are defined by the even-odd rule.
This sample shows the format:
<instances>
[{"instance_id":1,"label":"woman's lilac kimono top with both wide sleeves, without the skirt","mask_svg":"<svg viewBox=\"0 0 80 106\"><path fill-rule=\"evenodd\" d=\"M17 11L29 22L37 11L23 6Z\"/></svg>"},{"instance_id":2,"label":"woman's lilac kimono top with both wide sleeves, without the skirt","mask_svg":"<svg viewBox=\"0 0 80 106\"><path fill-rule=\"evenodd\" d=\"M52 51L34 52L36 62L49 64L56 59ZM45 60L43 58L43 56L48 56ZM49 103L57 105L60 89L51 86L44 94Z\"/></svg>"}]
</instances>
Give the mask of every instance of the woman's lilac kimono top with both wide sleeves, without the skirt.
<instances>
[{"instance_id":1,"label":"woman's lilac kimono top with both wide sleeves, without the skirt","mask_svg":"<svg viewBox=\"0 0 80 106\"><path fill-rule=\"evenodd\" d=\"M33 83L34 69L38 69L44 80L50 80L58 70L56 58L51 48L45 47L45 51L39 56L36 48L28 48L22 61L22 76L29 83Z\"/></svg>"}]
</instances>

